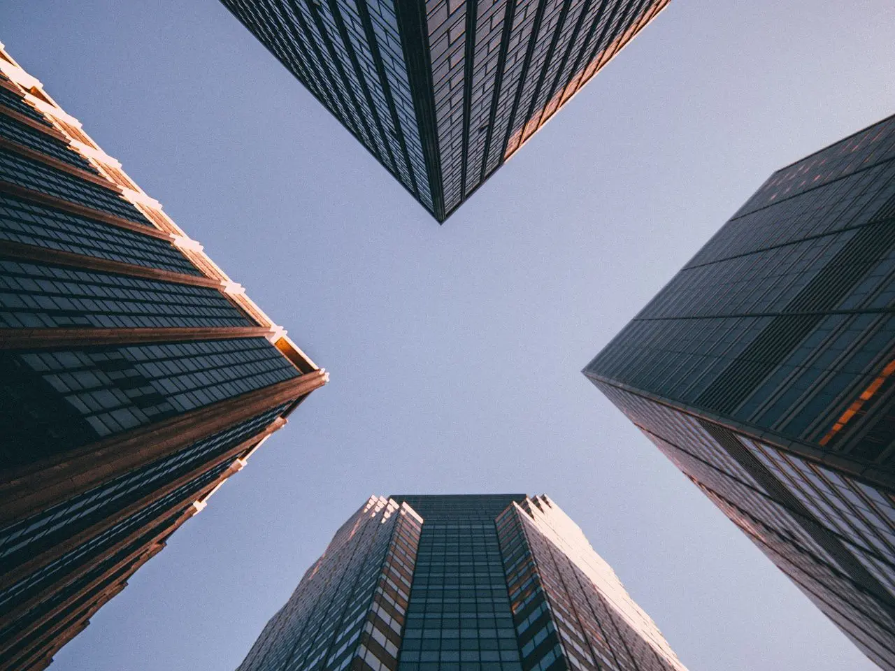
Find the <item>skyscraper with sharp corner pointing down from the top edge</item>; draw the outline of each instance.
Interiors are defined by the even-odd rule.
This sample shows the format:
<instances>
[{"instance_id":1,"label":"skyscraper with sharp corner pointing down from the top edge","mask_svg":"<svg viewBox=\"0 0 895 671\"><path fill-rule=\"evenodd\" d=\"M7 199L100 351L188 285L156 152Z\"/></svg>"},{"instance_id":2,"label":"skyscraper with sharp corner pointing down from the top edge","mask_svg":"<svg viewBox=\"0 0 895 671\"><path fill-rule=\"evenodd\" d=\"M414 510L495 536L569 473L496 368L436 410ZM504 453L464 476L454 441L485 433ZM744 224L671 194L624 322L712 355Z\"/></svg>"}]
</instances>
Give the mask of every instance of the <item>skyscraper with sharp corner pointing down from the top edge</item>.
<instances>
[{"instance_id":1,"label":"skyscraper with sharp corner pointing down from the top edge","mask_svg":"<svg viewBox=\"0 0 895 671\"><path fill-rule=\"evenodd\" d=\"M669 0L222 0L443 222Z\"/></svg>"}]
</instances>

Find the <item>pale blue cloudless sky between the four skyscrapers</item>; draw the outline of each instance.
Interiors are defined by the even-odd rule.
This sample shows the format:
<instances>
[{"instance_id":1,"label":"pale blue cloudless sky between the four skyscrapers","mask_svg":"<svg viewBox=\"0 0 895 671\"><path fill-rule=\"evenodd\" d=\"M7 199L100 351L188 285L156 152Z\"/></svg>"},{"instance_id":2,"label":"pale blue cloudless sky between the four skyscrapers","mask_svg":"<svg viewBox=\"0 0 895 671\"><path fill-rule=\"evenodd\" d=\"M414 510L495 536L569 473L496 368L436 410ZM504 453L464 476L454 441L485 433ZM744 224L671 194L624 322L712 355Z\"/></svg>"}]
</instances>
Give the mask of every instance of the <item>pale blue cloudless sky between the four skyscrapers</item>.
<instances>
[{"instance_id":1,"label":"pale blue cloudless sky between the four skyscrapers","mask_svg":"<svg viewBox=\"0 0 895 671\"><path fill-rule=\"evenodd\" d=\"M54 671L233 669L371 494L547 493L691 671L875 667L580 370L895 110L891 0L674 0L445 225L215 0L0 0L22 67L321 367Z\"/></svg>"}]
</instances>

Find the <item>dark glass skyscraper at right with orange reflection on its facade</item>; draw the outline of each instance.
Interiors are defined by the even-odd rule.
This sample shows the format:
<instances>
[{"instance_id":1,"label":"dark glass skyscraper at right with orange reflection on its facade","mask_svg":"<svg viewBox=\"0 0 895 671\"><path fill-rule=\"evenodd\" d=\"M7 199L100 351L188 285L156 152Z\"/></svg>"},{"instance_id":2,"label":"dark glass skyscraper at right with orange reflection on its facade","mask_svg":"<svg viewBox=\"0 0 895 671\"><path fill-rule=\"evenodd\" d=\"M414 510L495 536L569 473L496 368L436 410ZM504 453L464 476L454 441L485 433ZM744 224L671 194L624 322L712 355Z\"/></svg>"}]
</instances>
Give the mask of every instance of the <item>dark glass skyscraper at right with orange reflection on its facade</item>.
<instances>
[{"instance_id":1,"label":"dark glass skyscraper at right with orange reflection on its facade","mask_svg":"<svg viewBox=\"0 0 895 671\"><path fill-rule=\"evenodd\" d=\"M781 168L584 369L895 669L895 116Z\"/></svg>"}]
</instances>

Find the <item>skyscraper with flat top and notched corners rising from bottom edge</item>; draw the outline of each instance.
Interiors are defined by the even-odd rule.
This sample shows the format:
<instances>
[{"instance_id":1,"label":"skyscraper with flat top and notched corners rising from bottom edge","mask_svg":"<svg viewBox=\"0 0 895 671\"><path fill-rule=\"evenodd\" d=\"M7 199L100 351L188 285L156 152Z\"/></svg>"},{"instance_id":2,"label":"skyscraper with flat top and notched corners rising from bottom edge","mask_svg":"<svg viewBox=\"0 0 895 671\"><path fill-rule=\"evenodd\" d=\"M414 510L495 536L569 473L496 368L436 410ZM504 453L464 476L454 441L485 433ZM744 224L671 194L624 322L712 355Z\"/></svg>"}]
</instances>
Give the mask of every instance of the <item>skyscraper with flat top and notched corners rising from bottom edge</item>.
<instances>
[{"instance_id":1,"label":"skyscraper with flat top and notched corners rising from bottom edge","mask_svg":"<svg viewBox=\"0 0 895 671\"><path fill-rule=\"evenodd\" d=\"M371 497L238 671L686 671L550 498Z\"/></svg>"}]
</instances>

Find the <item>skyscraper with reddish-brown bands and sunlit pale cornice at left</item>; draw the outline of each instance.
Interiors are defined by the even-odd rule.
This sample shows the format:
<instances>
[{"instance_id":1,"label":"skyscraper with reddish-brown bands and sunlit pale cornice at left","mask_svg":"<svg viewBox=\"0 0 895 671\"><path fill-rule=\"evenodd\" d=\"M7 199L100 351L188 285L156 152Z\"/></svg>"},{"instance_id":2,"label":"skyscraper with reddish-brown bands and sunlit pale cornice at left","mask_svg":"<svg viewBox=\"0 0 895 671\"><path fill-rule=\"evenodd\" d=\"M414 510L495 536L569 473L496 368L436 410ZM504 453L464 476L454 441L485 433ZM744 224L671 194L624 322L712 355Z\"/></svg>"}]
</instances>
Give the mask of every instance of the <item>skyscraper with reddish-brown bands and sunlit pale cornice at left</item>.
<instances>
[{"instance_id":1,"label":"skyscraper with reddish-brown bands and sunlit pale cornice at left","mask_svg":"<svg viewBox=\"0 0 895 671\"><path fill-rule=\"evenodd\" d=\"M0 668L46 667L326 379L0 45Z\"/></svg>"}]
</instances>

